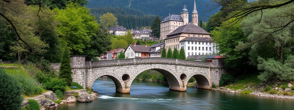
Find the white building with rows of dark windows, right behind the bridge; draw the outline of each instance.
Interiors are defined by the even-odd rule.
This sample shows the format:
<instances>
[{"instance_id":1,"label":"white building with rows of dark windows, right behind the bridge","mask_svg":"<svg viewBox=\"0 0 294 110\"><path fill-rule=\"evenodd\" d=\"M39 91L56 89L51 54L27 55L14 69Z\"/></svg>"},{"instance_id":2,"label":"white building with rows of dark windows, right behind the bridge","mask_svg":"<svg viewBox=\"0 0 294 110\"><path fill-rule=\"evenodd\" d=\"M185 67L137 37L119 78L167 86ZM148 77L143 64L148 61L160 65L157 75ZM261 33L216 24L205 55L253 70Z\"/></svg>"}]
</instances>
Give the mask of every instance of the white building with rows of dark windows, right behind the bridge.
<instances>
[{"instance_id":1,"label":"white building with rows of dark windows, right behind the bridge","mask_svg":"<svg viewBox=\"0 0 294 110\"><path fill-rule=\"evenodd\" d=\"M215 52L215 46L211 38L186 37L180 41L180 46L184 48L186 57L190 55L206 55Z\"/></svg>"}]
</instances>

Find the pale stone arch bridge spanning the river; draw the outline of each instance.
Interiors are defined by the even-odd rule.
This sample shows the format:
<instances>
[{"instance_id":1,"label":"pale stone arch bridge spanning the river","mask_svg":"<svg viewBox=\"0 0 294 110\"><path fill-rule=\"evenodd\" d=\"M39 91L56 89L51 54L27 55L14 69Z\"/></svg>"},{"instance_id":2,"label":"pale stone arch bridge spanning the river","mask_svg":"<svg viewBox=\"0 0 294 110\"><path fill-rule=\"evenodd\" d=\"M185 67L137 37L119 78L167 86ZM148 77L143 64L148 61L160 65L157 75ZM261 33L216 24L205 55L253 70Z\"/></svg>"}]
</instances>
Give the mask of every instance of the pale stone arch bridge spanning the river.
<instances>
[{"instance_id":1,"label":"pale stone arch bridge spanning the river","mask_svg":"<svg viewBox=\"0 0 294 110\"><path fill-rule=\"evenodd\" d=\"M221 74L225 73L222 59L200 62L170 58L130 58L118 60L85 61L84 56L71 56L72 78L84 88L92 88L101 76L110 77L116 91L130 93L131 83L145 70L156 70L166 77L170 90L186 91L188 80L194 77L198 88L211 89L218 86Z\"/></svg>"}]
</instances>

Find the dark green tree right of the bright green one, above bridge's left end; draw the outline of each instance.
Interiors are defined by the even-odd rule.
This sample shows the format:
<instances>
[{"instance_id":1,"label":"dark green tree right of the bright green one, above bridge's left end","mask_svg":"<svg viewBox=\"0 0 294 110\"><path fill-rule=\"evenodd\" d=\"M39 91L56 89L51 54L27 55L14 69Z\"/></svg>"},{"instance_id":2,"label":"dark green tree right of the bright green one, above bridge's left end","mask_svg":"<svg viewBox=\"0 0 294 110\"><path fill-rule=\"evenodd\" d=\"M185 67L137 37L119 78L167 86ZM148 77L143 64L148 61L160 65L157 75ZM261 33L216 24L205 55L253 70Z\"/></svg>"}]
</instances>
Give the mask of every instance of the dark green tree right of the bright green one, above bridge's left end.
<instances>
[{"instance_id":1,"label":"dark green tree right of the bright green one, above bridge's left end","mask_svg":"<svg viewBox=\"0 0 294 110\"><path fill-rule=\"evenodd\" d=\"M90 47L85 49L87 57L94 58L105 54L107 51L111 50L110 36L107 34L107 30L101 25L96 31L96 35L91 36Z\"/></svg>"}]
</instances>

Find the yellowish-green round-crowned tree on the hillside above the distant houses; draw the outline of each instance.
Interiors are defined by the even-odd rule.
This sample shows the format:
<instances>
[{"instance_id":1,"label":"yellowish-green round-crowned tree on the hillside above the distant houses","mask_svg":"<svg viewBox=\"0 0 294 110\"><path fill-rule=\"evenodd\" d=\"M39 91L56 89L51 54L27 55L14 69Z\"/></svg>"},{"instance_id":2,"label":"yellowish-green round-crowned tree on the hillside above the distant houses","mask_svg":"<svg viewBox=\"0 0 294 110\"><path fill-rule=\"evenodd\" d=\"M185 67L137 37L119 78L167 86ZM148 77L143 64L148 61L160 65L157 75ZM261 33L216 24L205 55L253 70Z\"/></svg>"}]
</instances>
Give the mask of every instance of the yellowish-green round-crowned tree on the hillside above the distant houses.
<instances>
[{"instance_id":1,"label":"yellowish-green round-crowned tree on the hillside above the distant houses","mask_svg":"<svg viewBox=\"0 0 294 110\"><path fill-rule=\"evenodd\" d=\"M100 16L101 25L109 30L112 26L117 26L117 18L112 13L106 13Z\"/></svg>"}]
</instances>

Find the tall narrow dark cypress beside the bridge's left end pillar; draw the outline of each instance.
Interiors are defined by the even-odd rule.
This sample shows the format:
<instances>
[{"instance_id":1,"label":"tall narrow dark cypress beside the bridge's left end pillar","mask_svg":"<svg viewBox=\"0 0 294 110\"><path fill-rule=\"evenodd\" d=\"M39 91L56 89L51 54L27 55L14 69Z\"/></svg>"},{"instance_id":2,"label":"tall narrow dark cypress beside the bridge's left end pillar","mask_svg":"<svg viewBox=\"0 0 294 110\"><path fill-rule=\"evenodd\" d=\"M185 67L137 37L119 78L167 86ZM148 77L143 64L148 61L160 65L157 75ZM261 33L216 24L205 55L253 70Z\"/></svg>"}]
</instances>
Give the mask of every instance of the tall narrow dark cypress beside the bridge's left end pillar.
<instances>
[{"instance_id":1,"label":"tall narrow dark cypress beside the bridge's left end pillar","mask_svg":"<svg viewBox=\"0 0 294 110\"><path fill-rule=\"evenodd\" d=\"M59 78L63 78L67 85L71 85L73 78L71 77L71 58L69 56L69 48L65 47L61 57L61 64L59 67Z\"/></svg>"}]
</instances>

